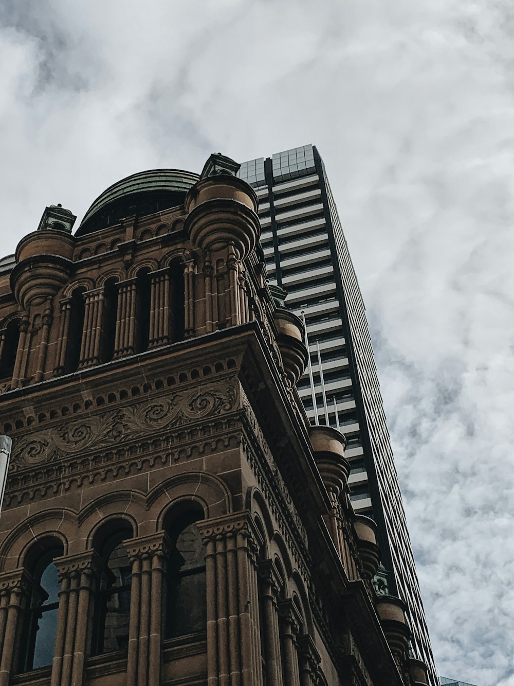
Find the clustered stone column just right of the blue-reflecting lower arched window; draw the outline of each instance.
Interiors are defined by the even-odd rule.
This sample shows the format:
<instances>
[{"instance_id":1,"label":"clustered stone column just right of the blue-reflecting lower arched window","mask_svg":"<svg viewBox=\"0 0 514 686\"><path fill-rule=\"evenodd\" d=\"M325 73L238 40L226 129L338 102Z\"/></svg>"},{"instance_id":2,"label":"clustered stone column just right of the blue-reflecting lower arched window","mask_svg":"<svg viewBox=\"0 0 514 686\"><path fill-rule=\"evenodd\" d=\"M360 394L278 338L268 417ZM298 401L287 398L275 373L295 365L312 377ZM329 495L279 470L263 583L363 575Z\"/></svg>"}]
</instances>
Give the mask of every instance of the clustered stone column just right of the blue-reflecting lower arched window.
<instances>
[{"instance_id":1,"label":"clustered stone column just right of the blue-reflecting lower arched window","mask_svg":"<svg viewBox=\"0 0 514 686\"><path fill-rule=\"evenodd\" d=\"M101 563L93 550L54 561L61 591L50 685L82 686Z\"/></svg>"}]
</instances>

